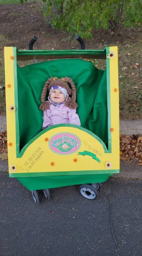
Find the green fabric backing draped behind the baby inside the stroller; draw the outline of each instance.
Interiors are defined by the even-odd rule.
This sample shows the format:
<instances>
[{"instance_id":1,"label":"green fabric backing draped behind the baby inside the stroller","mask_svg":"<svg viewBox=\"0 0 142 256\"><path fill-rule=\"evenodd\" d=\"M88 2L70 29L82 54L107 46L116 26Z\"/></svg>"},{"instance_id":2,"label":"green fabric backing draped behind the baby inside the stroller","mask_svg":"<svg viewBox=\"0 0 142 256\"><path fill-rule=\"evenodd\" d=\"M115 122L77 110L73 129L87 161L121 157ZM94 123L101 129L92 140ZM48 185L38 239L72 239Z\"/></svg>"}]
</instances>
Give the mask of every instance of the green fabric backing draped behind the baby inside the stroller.
<instances>
[{"instance_id":1,"label":"green fabric backing draped behind the baby inside the stroller","mask_svg":"<svg viewBox=\"0 0 142 256\"><path fill-rule=\"evenodd\" d=\"M76 85L81 126L96 134L108 146L106 70L99 70L85 60L63 59L23 68L17 65L20 150L42 130L43 112L39 109L41 92L52 76L71 77Z\"/></svg>"}]
</instances>

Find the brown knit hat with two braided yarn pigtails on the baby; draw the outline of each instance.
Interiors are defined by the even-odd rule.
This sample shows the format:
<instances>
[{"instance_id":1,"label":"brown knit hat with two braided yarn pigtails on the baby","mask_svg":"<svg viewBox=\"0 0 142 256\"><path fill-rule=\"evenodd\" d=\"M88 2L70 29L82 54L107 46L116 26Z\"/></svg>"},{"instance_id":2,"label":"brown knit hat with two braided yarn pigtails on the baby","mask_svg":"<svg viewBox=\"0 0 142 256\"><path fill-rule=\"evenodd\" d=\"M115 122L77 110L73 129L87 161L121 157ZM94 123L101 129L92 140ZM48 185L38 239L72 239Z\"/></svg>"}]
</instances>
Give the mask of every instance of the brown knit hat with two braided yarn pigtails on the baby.
<instances>
[{"instance_id":1,"label":"brown knit hat with two braided yarn pigtails on the baby","mask_svg":"<svg viewBox=\"0 0 142 256\"><path fill-rule=\"evenodd\" d=\"M71 88L70 88L70 86ZM65 106L67 106L70 109L76 109L78 107L76 101L76 88L75 88L75 84L72 81L71 78L69 77L64 77L61 79L58 79L57 77L51 77L49 78L46 83L45 86L43 87L42 90L42 94L41 94L41 102L42 104L40 105L40 109L45 111L46 109L49 109L49 105L51 105L51 102L47 102L45 101L45 96L47 94L47 90L50 90L51 87L53 86L58 86L58 87L62 87L65 88L67 90L67 93L69 95L71 95L71 98L69 97L67 99L67 101L65 102Z\"/></svg>"}]
</instances>

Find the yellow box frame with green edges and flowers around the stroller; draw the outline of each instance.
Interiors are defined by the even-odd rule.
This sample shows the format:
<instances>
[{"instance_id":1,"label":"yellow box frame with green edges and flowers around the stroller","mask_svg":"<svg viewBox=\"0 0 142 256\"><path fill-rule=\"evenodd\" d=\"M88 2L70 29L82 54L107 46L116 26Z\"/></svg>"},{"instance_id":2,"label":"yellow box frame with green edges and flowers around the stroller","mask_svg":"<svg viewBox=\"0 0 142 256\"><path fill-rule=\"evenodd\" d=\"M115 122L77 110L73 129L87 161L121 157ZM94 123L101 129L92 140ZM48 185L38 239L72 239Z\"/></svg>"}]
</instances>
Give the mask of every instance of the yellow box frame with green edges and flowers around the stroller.
<instances>
[{"instance_id":1,"label":"yellow box frame with green edges and flowers around the stroller","mask_svg":"<svg viewBox=\"0 0 142 256\"><path fill-rule=\"evenodd\" d=\"M108 59L113 51L115 58ZM91 58L91 57L90 57ZM92 132L75 125L56 125L40 132L21 152L18 131L18 95L17 95L17 52L15 47L4 48L5 88L7 113L7 147L10 177L53 176L71 174L119 173L119 88L117 47L107 47L107 90L108 90L108 150L105 144ZM16 116L17 115L17 116ZM81 140L81 147L73 154L61 155L51 151L48 143L58 133L72 133ZM78 152L90 152L85 155ZM101 162L97 162L92 154ZM47 158L48 156L48 158ZM38 159L37 159L38 158ZM84 160L84 161L83 161Z\"/></svg>"}]
</instances>

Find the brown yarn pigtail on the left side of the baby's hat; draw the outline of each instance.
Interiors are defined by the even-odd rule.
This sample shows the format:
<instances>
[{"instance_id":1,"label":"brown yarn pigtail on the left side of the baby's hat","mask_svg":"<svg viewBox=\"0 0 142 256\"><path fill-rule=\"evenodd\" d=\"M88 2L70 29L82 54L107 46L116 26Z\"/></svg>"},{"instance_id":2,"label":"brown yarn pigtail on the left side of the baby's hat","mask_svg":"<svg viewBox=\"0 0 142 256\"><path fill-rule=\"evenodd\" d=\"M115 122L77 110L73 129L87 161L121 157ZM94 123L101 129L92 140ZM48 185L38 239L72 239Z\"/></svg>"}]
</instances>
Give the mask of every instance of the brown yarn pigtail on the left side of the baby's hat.
<instances>
[{"instance_id":1,"label":"brown yarn pigtail on the left side of the baby's hat","mask_svg":"<svg viewBox=\"0 0 142 256\"><path fill-rule=\"evenodd\" d=\"M46 94L47 94L47 90L49 88L49 84L54 80L53 77L49 78L46 83L45 83L45 86L43 87L43 90L42 90L42 94L41 94L41 105L39 107L39 109L41 109L42 111L45 111L46 109L49 109L49 105L51 105L50 102L46 102L45 101L45 97L46 97Z\"/></svg>"}]
</instances>

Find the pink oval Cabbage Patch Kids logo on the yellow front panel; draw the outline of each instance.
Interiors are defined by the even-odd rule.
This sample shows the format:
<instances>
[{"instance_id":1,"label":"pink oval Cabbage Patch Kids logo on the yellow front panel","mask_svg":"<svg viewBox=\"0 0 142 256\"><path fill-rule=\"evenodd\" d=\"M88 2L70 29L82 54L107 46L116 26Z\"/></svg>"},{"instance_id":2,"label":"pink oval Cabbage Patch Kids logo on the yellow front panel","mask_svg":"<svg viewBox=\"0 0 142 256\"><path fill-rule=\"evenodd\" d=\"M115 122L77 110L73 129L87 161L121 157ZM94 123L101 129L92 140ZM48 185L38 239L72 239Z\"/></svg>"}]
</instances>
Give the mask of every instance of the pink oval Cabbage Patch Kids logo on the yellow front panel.
<instances>
[{"instance_id":1,"label":"pink oval Cabbage Patch Kids logo on the yellow front panel","mask_svg":"<svg viewBox=\"0 0 142 256\"><path fill-rule=\"evenodd\" d=\"M81 141L73 133L57 133L49 140L50 149L56 154L73 154L81 146Z\"/></svg>"}]
</instances>

